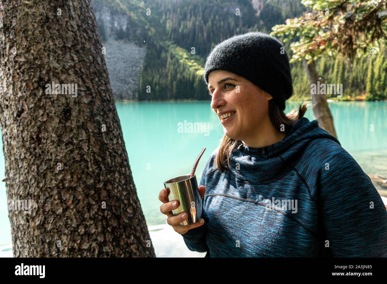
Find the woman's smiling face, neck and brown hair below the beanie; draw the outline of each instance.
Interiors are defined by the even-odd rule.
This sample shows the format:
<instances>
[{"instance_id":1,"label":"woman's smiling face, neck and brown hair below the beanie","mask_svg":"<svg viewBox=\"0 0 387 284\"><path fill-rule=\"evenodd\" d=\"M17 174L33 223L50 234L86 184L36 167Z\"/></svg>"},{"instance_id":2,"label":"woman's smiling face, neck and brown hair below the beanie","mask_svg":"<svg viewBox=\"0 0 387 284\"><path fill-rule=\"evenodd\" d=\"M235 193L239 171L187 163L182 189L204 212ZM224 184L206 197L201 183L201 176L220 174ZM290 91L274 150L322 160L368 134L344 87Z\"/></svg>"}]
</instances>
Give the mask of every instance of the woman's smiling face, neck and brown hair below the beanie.
<instances>
[{"instance_id":1,"label":"woman's smiling face, neck and brown hair below the beanie","mask_svg":"<svg viewBox=\"0 0 387 284\"><path fill-rule=\"evenodd\" d=\"M231 143L236 146L236 141L241 140L244 145L253 148L272 145L281 141L299 118L295 112L281 116L283 111L270 94L229 71L209 72L209 90L212 96L211 107L221 121L225 134L218 155L219 166L223 170L221 161L225 158L226 150L232 146ZM306 104L301 105L300 117L306 109Z\"/></svg>"}]
</instances>

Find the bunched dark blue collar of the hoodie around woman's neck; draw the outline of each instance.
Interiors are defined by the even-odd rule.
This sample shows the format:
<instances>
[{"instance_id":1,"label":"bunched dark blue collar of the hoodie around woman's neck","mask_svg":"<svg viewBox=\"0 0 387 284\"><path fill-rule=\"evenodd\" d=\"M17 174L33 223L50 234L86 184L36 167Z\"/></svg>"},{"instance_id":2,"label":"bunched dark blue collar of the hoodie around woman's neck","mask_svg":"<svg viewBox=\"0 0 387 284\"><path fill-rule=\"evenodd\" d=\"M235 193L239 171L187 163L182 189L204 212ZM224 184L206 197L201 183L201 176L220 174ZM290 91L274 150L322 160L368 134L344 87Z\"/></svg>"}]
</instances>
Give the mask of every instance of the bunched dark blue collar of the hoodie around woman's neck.
<instances>
[{"instance_id":1,"label":"bunched dark blue collar of the hoodie around woman's neck","mask_svg":"<svg viewBox=\"0 0 387 284\"><path fill-rule=\"evenodd\" d=\"M301 117L281 141L260 148L250 148L238 140L230 156L231 172L236 179L251 184L274 181L286 175L300 158L308 144L317 138L340 142L319 127L315 119Z\"/></svg>"}]
</instances>

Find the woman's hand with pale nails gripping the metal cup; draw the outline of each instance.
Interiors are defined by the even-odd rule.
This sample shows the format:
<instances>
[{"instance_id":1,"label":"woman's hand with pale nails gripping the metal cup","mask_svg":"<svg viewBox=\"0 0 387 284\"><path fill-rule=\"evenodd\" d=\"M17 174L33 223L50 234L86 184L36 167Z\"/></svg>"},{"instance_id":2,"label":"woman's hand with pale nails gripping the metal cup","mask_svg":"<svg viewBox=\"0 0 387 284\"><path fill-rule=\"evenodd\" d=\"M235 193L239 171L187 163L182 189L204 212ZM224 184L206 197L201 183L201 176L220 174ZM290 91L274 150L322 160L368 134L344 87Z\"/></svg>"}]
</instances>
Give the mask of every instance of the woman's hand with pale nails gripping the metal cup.
<instances>
[{"instance_id":1,"label":"woman's hand with pale nails gripping the metal cup","mask_svg":"<svg viewBox=\"0 0 387 284\"><path fill-rule=\"evenodd\" d=\"M199 189L200 199L203 199L204 192L205 192L205 186L200 185L198 187L198 189ZM187 233L189 230L191 230L193 228L200 227L200 226L202 226L202 224L204 224L204 220L200 219L198 222L196 222L195 224L192 224L192 225L188 225L188 226L179 225L179 223L182 223L183 221L185 221L187 219L187 213L183 212L183 213L180 213L176 216L172 215L171 211L175 210L177 207L179 207L180 204L178 201L169 201L168 202L168 189L164 188L163 190L160 191L159 200L161 202L163 202L163 204L161 204L161 206L160 206L161 213L168 216L167 224L171 225L173 230L175 230L180 235L183 235L183 234ZM203 223L200 223L200 222L203 222Z\"/></svg>"}]
</instances>

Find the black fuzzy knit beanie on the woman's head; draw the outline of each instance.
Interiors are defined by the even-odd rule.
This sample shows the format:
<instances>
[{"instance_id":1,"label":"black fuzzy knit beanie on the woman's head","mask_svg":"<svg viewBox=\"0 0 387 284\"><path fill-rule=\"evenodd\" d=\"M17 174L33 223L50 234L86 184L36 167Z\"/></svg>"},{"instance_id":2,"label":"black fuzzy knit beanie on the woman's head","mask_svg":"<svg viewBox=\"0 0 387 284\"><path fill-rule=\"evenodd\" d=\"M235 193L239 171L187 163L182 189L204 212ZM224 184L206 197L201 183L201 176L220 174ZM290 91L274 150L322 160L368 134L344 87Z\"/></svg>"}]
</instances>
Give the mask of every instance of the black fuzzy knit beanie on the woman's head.
<instances>
[{"instance_id":1,"label":"black fuzzy knit beanie on the woman's head","mask_svg":"<svg viewBox=\"0 0 387 284\"><path fill-rule=\"evenodd\" d=\"M269 93L285 110L293 94L288 54L284 46L263 32L235 35L217 44L207 56L204 80L214 70L235 73Z\"/></svg>"}]
</instances>

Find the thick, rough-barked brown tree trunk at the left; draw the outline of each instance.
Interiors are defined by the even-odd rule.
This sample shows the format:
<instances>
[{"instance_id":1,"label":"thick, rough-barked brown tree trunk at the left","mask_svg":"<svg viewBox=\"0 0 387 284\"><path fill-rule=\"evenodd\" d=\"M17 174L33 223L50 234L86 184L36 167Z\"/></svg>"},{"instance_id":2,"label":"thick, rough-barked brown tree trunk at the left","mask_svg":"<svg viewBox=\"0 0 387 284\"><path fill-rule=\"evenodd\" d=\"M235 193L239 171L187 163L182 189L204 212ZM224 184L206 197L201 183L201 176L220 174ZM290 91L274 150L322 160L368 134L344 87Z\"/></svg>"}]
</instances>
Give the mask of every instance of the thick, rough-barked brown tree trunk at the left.
<instances>
[{"instance_id":1,"label":"thick, rough-barked brown tree trunk at the left","mask_svg":"<svg viewBox=\"0 0 387 284\"><path fill-rule=\"evenodd\" d=\"M101 49L90 0L0 0L7 199L32 203L14 257L155 256Z\"/></svg>"}]
</instances>

